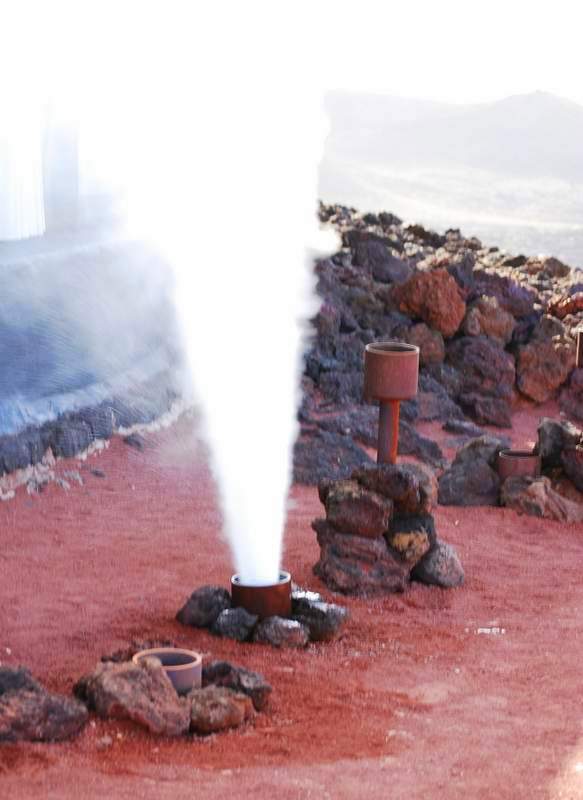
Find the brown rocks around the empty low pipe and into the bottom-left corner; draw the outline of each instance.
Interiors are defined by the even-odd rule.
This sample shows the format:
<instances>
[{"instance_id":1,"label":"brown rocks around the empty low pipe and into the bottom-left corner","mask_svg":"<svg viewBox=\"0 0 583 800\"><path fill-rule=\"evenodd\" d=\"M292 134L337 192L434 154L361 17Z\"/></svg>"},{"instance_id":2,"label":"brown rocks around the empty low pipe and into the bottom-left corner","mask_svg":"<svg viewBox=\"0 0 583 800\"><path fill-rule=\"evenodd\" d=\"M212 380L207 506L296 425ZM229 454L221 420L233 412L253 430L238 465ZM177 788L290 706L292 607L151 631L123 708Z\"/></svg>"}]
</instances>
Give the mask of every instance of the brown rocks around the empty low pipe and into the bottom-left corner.
<instances>
[{"instance_id":1,"label":"brown rocks around the empty low pipe and into the bottom-left corner","mask_svg":"<svg viewBox=\"0 0 583 800\"><path fill-rule=\"evenodd\" d=\"M203 665L202 687L181 697L160 661L102 661L74 687L77 699L50 694L23 667L0 667L0 743L77 736L89 711L127 720L159 736L236 728L268 705L272 687L228 661Z\"/></svg>"}]
</instances>

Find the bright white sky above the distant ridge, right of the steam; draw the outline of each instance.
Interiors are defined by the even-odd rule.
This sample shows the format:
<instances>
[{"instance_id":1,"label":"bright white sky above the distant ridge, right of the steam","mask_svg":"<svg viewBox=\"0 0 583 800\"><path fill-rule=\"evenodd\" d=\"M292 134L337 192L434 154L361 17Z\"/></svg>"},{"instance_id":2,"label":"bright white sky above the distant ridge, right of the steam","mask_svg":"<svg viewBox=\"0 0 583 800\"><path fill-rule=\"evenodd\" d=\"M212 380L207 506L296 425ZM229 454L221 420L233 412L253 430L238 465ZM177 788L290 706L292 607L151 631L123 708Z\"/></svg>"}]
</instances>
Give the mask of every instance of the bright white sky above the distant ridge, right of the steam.
<instances>
[{"instance_id":1,"label":"bright white sky above the distant ridge, right of the steam","mask_svg":"<svg viewBox=\"0 0 583 800\"><path fill-rule=\"evenodd\" d=\"M347 13L331 24L344 44L328 72L339 88L454 103L541 89L583 103L576 0L339 5Z\"/></svg>"}]
</instances>

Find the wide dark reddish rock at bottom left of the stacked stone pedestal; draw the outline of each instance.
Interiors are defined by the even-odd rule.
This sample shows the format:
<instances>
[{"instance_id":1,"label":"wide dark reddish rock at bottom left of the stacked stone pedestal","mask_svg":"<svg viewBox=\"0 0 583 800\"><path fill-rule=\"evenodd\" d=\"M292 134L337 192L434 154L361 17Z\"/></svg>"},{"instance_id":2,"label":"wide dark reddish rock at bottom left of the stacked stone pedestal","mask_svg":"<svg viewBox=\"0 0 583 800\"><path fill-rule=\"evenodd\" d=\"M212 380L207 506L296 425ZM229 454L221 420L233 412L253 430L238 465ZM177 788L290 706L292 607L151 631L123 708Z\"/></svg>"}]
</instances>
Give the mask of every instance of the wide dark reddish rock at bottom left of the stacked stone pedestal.
<instances>
[{"instance_id":1,"label":"wide dark reddish rock at bottom left of the stacked stone pedestal","mask_svg":"<svg viewBox=\"0 0 583 800\"><path fill-rule=\"evenodd\" d=\"M337 533L325 520L315 520L320 559L314 574L334 591L372 595L403 592L409 581L406 565L383 538L366 539Z\"/></svg>"}]
</instances>

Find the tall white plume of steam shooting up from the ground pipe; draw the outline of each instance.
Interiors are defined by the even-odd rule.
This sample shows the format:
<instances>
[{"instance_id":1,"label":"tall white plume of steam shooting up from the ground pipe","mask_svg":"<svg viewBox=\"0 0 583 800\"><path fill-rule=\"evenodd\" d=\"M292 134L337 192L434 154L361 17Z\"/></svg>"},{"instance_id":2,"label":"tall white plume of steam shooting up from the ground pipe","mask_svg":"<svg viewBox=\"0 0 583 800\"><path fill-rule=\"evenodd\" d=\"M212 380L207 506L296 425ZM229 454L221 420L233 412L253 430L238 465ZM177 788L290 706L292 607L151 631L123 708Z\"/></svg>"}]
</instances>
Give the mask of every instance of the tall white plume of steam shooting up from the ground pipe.
<instances>
[{"instance_id":1,"label":"tall white plume of steam shooting up from the ground pipe","mask_svg":"<svg viewBox=\"0 0 583 800\"><path fill-rule=\"evenodd\" d=\"M271 12L254 29L236 13L217 28L227 69L207 48L208 61L188 60L192 83L180 70L178 84L149 96L132 136L129 207L175 268L234 567L261 585L277 581L282 561L306 321L317 308L313 254L335 242L317 222L326 126L301 46L306 15Z\"/></svg>"}]
</instances>

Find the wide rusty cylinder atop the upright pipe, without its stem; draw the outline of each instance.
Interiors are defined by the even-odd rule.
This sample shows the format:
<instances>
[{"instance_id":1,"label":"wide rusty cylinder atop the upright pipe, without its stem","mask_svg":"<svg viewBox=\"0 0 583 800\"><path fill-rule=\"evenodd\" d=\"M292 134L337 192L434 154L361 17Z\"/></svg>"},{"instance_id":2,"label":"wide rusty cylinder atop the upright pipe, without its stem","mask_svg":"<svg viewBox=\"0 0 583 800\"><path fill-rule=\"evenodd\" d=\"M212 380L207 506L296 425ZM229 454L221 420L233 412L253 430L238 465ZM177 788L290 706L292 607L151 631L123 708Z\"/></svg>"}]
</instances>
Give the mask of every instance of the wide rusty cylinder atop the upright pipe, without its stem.
<instances>
[{"instance_id":1,"label":"wide rusty cylinder atop the upright pipe, without its stem","mask_svg":"<svg viewBox=\"0 0 583 800\"><path fill-rule=\"evenodd\" d=\"M365 400L410 400L417 394L418 378L417 345L371 342L365 347Z\"/></svg>"}]
</instances>

